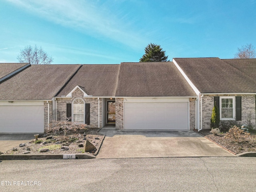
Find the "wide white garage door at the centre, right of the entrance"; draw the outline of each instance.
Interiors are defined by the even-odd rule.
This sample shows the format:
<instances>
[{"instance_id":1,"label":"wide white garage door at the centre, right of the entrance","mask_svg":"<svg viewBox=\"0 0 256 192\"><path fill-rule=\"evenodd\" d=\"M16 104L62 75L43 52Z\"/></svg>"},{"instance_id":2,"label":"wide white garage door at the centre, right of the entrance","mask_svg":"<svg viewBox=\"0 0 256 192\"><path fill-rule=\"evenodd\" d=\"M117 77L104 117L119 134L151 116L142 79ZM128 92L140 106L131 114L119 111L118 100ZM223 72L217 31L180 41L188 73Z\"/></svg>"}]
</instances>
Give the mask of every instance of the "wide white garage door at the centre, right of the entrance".
<instances>
[{"instance_id":1,"label":"wide white garage door at the centre, right of the entrance","mask_svg":"<svg viewBox=\"0 0 256 192\"><path fill-rule=\"evenodd\" d=\"M124 102L124 129L188 130L188 102Z\"/></svg>"}]
</instances>

